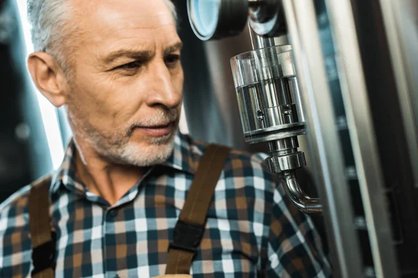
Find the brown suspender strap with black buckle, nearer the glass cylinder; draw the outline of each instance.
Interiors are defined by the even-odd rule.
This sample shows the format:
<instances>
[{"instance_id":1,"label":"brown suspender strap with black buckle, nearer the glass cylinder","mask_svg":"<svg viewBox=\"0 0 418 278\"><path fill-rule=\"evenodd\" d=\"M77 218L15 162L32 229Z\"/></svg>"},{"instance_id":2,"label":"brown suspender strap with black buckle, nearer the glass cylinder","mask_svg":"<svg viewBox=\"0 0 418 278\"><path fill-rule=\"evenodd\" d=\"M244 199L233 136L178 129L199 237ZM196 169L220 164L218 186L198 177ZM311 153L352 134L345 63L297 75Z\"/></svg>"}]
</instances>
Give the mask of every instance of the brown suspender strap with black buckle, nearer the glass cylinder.
<instances>
[{"instance_id":1,"label":"brown suspender strap with black buckle, nearer the glass cylinder","mask_svg":"<svg viewBox=\"0 0 418 278\"><path fill-rule=\"evenodd\" d=\"M189 274L205 231L206 216L230 149L208 145L201 158L169 245L167 275Z\"/></svg>"}]
</instances>

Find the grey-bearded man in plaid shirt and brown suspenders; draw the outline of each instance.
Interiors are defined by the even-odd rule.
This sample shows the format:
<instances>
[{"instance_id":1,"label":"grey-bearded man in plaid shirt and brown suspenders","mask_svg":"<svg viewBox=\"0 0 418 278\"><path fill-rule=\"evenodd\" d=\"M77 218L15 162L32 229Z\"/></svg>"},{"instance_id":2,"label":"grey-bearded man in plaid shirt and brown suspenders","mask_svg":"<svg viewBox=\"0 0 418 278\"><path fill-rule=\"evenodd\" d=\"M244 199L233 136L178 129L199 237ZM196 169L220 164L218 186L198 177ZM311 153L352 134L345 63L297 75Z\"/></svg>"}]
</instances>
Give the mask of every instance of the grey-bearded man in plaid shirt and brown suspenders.
<instances>
[{"instance_id":1,"label":"grey-bearded man in plaid shirt and brown suspenders","mask_svg":"<svg viewBox=\"0 0 418 278\"><path fill-rule=\"evenodd\" d=\"M193 277L330 276L311 220L263 170L260 154L206 152L178 132L182 42L170 1L29 0L28 9L31 76L66 107L74 137L44 195L33 201L26 186L1 206L0 277L45 269L55 277L156 277L174 252L171 273ZM223 160L202 162L221 151ZM216 165L219 173L208 175ZM213 191L192 196L194 179L213 177ZM201 192L210 201L203 226L183 223L173 236L187 197L189 213L203 206ZM187 233L202 227L197 252L187 253ZM49 239L35 243L33 229Z\"/></svg>"}]
</instances>

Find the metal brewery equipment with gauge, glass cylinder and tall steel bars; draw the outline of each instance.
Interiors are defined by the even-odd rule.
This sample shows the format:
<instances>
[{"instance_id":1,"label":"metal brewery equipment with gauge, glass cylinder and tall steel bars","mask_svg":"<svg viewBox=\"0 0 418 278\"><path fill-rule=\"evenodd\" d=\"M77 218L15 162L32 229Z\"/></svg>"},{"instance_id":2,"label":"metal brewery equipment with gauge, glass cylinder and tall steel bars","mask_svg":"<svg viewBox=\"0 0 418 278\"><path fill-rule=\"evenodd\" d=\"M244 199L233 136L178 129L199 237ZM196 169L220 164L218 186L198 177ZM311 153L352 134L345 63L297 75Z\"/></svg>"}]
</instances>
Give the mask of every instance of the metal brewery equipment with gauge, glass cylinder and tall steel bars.
<instances>
[{"instance_id":1,"label":"metal brewery equipment with gauge, glass cylinder and tall steel bars","mask_svg":"<svg viewBox=\"0 0 418 278\"><path fill-rule=\"evenodd\" d=\"M335 276L416 277L416 1L188 0L187 8L201 40L248 24L252 51L231 58L245 141L268 145L268 170L297 208L323 213ZM274 44L282 35L289 45ZM319 199L295 176L306 164L304 134Z\"/></svg>"}]
</instances>

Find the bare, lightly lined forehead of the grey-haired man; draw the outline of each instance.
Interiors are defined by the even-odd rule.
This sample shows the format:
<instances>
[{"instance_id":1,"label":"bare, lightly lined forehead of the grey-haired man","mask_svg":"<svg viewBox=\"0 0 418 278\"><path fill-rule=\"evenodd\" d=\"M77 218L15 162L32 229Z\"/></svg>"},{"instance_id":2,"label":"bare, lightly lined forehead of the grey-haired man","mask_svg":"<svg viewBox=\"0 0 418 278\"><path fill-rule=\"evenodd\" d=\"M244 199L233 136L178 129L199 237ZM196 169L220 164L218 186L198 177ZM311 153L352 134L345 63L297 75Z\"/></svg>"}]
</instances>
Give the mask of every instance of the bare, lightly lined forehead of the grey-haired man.
<instances>
[{"instance_id":1,"label":"bare, lightly lined forehead of the grey-haired man","mask_svg":"<svg viewBox=\"0 0 418 278\"><path fill-rule=\"evenodd\" d=\"M83 2L83 3L81 3ZM86 3L87 2L87 3ZM164 0L77 0L79 45L97 58L118 49L162 50L180 42Z\"/></svg>"}]
</instances>

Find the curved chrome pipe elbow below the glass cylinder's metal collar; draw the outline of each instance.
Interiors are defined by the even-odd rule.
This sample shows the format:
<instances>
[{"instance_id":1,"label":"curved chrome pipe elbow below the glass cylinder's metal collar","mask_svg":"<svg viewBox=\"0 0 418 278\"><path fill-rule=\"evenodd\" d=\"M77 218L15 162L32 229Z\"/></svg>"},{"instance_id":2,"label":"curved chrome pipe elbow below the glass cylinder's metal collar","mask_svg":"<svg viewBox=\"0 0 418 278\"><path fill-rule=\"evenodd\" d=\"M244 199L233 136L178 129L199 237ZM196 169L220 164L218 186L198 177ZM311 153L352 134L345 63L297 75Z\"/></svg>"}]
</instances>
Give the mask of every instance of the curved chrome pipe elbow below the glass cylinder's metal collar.
<instances>
[{"instance_id":1,"label":"curved chrome pipe elbow below the glass cylinder's metal collar","mask_svg":"<svg viewBox=\"0 0 418 278\"><path fill-rule=\"evenodd\" d=\"M288 170L280 173L281 181L286 195L300 211L304 213L322 213L323 205L318 198L311 198L300 188L297 182L295 170Z\"/></svg>"}]
</instances>

